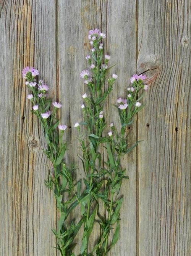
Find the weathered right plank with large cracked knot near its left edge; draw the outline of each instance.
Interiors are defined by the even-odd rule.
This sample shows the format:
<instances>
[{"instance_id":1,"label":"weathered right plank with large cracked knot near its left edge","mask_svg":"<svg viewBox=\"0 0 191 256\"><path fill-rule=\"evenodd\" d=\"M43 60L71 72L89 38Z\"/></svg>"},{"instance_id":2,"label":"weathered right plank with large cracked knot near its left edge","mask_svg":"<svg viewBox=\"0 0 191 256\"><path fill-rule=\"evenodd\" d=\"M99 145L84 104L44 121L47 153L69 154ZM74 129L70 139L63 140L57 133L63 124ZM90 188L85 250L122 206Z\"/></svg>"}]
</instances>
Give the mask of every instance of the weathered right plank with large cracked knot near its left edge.
<instances>
[{"instance_id":1,"label":"weathered right plank with large cracked knot near its left edge","mask_svg":"<svg viewBox=\"0 0 191 256\"><path fill-rule=\"evenodd\" d=\"M190 251L190 1L140 1L139 255ZM144 103L144 102L143 102Z\"/></svg>"}]
</instances>

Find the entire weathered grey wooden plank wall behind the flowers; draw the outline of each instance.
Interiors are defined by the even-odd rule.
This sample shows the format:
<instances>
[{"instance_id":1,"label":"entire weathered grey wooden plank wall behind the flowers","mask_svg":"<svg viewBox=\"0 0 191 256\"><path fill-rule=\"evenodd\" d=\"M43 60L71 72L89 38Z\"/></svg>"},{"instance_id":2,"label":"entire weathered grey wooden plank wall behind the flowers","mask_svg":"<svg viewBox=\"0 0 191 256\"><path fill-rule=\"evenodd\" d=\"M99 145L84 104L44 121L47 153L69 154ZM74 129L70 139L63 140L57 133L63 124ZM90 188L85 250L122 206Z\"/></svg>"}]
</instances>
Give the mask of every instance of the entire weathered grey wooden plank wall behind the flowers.
<instances>
[{"instance_id":1,"label":"entire weathered grey wooden plank wall behind the flowers","mask_svg":"<svg viewBox=\"0 0 191 256\"><path fill-rule=\"evenodd\" d=\"M130 181L123 181L120 240L109 255L191 255L190 10L190 0L0 1L0 256L56 255L50 227L57 211L44 185L49 162L21 69L39 69L72 127L81 121L79 73L88 30L96 27L107 33L105 51L119 76L105 106L108 121L117 119L112 104L131 74L145 72L151 82L129 129L132 144L144 142L124 160ZM76 131L67 137L67 160L77 161Z\"/></svg>"}]
</instances>

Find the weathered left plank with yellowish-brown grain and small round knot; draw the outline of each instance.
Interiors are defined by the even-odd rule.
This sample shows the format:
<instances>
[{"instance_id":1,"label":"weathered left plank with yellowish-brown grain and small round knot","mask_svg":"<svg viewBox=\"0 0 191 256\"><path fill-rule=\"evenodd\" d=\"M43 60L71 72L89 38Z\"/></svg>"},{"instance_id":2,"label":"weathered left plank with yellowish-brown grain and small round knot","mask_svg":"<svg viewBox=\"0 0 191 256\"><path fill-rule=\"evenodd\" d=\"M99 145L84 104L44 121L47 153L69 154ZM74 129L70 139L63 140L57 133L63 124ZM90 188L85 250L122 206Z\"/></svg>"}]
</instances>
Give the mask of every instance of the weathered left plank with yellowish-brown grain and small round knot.
<instances>
[{"instance_id":1,"label":"weathered left plank with yellowish-brown grain and small round knot","mask_svg":"<svg viewBox=\"0 0 191 256\"><path fill-rule=\"evenodd\" d=\"M53 255L55 201L44 185L48 164L21 69L39 68L56 91L55 2L4 1L1 8L0 255Z\"/></svg>"}]
</instances>

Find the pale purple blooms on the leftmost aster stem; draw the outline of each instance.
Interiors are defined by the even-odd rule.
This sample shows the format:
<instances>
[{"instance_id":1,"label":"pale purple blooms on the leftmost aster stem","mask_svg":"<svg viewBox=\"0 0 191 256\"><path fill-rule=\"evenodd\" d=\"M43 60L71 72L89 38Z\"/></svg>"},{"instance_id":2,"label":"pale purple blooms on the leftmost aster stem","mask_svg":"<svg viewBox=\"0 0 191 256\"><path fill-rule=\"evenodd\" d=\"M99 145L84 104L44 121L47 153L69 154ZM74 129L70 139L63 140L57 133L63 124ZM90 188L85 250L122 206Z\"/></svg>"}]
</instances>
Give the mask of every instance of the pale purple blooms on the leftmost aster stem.
<instances>
[{"instance_id":1,"label":"pale purple blooms on the leftmost aster stem","mask_svg":"<svg viewBox=\"0 0 191 256\"><path fill-rule=\"evenodd\" d=\"M28 79L28 78L30 78L31 76L32 76L32 78L34 79L36 76L39 75L39 71L38 71L37 69L33 68L33 67L26 67L26 68L23 69L22 74L23 74L23 78L25 78L25 79ZM26 84L27 86L31 87L31 88L35 88L36 85L37 85L37 89L38 89L39 91L41 91L39 94L37 94L37 96L38 96L39 98L47 97L47 96L48 96L48 94L47 94L46 92L49 91L49 86L47 86L47 84L45 84L42 80L39 80L39 84L37 84L36 82L28 82L28 81L26 81L25 84ZM34 99L33 94L28 94L27 98L28 98L29 100L31 100L32 102L34 102L34 101L33 101L33 99ZM52 102L52 104L53 104L53 106L55 107L55 109L59 109L59 108L62 107L62 104L60 104L59 102ZM34 105L34 106L32 107L32 109L33 109L35 112L37 112L37 111L39 110L39 106L38 106L38 105ZM43 119L48 119L49 116L51 115L51 112L50 112L50 110L48 110L48 111L46 111L45 113L40 113L40 115L41 115L41 117L42 117ZM66 130L66 128L67 128L66 125L58 125L58 129L60 129L60 130L62 130L62 131Z\"/></svg>"}]
</instances>

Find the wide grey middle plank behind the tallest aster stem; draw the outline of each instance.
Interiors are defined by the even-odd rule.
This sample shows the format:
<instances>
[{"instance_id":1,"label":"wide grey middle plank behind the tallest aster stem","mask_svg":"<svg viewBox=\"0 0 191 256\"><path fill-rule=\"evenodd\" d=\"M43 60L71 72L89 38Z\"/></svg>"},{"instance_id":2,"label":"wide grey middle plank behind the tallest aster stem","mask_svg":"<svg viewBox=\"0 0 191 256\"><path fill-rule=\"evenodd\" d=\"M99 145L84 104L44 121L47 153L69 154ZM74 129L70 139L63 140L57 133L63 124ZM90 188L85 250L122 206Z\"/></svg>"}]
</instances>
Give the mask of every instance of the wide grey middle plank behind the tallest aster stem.
<instances>
[{"instance_id":1,"label":"wide grey middle plank behind the tallest aster stem","mask_svg":"<svg viewBox=\"0 0 191 256\"><path fill-rule=\"evenodd\" d=\"M105 113L108 112L108 124L109 121L115 122L118 120L118 115L112 104L115 104L117 97L125 96L126 79L129 81L136 69L136 34L134 33L136 6L131 1L121 1L117 5L115 1L59 1L58 12L59 98L65 106L62 109L63 122L73 127L76 121L82 120L81 95L87 91L87 88L80 80L79 73L87 68L84 57L90 49L88 30L96 27L107 32L108 39L104 40L105 53L108 52L112 56L111 64L118 63L113 72L119 75L119 79L105 106ZM132 128L129 144L136 141L136 124ZM75 129L71 129L70 134L67 135L68 141L71 141L67 160L79 164L77 136ZM125 200L121 213L120 242L110 255L130 256L136 255L136 151L124 160L124 166L128 168L130 182L123 182L122 193ZM77 178L82 177L82 168L80 168ZM90 243L93 243L98 235L97 227L94 229ZM79 248L76 249L79 252Z\"/></svg>"}]
</instances>

